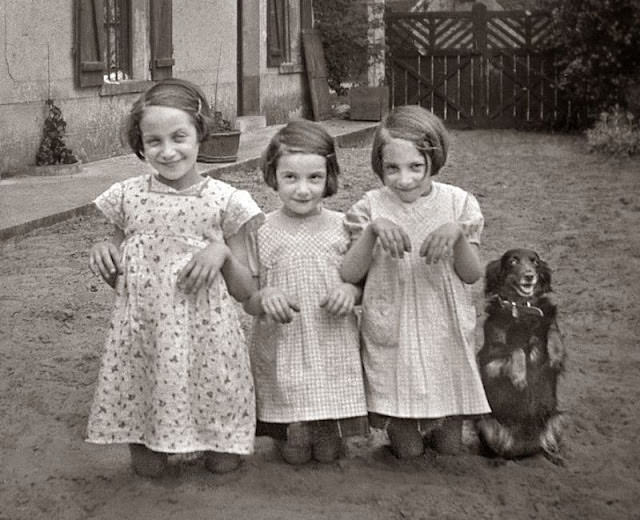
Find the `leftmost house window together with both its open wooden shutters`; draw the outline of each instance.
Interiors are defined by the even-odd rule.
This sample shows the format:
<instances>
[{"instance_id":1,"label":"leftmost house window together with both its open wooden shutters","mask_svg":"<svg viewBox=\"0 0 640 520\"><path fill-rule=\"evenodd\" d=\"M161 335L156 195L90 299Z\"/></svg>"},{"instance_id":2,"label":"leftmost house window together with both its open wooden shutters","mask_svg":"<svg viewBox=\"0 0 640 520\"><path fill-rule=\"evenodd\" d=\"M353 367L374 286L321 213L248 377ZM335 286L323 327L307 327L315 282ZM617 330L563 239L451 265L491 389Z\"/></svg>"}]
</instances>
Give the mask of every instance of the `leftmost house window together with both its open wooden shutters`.
<instances>
[{"instance_id":1,"label":"leftmost house window together with both its open wooden shutters","mask_svg":"<svg viewBox=\"0 0 640 520\"><path fill-rule=\"evenodd\" d=\"M76 0L74 7L78 87L133 88L137 80L139 91L145 80L172 76L172 0ZM133 30L147 25L148 34Z\"/></svg>"}]
</instances>

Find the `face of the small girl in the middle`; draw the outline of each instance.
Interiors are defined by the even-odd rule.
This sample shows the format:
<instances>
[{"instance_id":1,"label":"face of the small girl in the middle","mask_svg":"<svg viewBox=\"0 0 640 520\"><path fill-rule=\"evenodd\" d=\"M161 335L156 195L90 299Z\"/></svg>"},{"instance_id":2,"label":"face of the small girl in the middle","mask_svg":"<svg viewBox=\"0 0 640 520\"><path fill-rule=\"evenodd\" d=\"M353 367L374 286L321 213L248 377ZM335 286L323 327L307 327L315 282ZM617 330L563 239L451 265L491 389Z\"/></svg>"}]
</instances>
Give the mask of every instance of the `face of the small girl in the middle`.
<instances>
[{"instance_id":1,"label":"face of the small girl in the middle","mask_svg":"<svg viewBox=\"0 0 640 520\"><path fill-rule=\"evenodd\" d=\"M284 153L278 159L276 182L286 215L315 215L327 184L327 160L314 153Z\"/></svg>"}]
</instances>

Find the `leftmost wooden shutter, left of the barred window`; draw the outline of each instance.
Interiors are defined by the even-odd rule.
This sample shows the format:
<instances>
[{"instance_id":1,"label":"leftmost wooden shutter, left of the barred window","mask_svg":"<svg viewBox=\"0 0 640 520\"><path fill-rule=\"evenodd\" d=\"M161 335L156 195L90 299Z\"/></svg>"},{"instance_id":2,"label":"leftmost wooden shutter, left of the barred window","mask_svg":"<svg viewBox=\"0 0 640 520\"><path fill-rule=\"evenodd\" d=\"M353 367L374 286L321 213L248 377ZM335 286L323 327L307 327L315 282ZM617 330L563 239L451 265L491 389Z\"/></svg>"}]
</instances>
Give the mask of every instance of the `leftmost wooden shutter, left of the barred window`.
<instances>
[{"instance_id":1,"label":"leftmost wooden shutter, left of the barred window","mask_svg":"<svg viewBox=\"0 0 640 520\"><path fill-rule=\"evenodd\" d=\"M75 19L77 85L99 87L106 69L104 0L76 0Z\"/></svg>"}]
</instances>

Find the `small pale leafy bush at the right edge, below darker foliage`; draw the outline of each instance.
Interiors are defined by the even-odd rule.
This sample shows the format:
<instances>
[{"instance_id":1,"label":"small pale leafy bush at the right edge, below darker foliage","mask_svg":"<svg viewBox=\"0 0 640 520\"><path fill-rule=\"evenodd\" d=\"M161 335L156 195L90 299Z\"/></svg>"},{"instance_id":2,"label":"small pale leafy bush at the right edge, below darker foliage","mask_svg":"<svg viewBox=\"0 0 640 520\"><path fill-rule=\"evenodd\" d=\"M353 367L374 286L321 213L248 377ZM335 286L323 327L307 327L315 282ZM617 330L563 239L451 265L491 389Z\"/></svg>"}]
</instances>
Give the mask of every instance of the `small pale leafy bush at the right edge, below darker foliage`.
<instances>
[{"instance_id":1,"label":"small pale leafy bush at the right edge, below darker foliage","mask_svg":"<svg viewBox=\"0 0 640 520\"><path fill-rule=\"evenodd\" d=\"M602 112L593 128L587 130L589 150L611 155L640 153L640 128L631 112L616 105L609 112Z\"/></svg>"}]
</instances>

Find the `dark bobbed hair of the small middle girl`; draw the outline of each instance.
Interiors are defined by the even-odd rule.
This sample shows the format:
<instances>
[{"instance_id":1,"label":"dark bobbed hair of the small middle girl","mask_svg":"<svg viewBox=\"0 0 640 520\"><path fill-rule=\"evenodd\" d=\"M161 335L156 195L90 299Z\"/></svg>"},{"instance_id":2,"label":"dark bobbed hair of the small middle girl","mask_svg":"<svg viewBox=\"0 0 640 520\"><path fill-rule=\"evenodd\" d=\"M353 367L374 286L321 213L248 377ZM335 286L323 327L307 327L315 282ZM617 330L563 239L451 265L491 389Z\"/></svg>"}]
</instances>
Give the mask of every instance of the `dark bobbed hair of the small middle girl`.
<instances>
[{"instance_id":1,"label":"dark bobbed hair of the small middle girl","mask_svg":"<svg viewBox=\"0 0 640 520\"><path fill-rule=\"evenodd\" d=\"M278 190L276 169L278 160L288 153L309 153L321 155L326 159L327 184L324 197L330 197L338 191L340 167L336 157L333 137L318 123L307 119L289 122L273 136L262 154L262 175L267 186Z\"/></svg>"}]
</instances>

